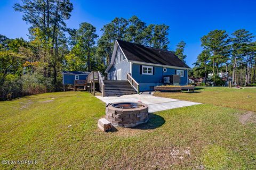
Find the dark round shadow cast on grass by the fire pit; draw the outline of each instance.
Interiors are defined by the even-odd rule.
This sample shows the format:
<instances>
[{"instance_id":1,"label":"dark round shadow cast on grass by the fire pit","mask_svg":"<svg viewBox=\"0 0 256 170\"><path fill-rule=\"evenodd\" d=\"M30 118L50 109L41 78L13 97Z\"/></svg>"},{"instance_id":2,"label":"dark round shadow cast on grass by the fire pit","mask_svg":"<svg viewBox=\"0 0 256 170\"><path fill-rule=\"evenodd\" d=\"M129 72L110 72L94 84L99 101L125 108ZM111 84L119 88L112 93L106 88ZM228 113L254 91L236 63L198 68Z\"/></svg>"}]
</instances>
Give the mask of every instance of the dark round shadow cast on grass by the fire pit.
<instances>
[{"instance_id":1,"label":"dark round shadow cast on grass by the fire pit","mask_svg":"<svg viewBox=\"0 0 256 170\"><path fill-rule=\"evenodd\" d=\"M165 120L162 116L156 115L154 113L148 113L148 117L149 117L149 120L147 123L140 124L131 129L140 129L140 130L156 129L165 123Z\"/></svg>"}]
</instances>

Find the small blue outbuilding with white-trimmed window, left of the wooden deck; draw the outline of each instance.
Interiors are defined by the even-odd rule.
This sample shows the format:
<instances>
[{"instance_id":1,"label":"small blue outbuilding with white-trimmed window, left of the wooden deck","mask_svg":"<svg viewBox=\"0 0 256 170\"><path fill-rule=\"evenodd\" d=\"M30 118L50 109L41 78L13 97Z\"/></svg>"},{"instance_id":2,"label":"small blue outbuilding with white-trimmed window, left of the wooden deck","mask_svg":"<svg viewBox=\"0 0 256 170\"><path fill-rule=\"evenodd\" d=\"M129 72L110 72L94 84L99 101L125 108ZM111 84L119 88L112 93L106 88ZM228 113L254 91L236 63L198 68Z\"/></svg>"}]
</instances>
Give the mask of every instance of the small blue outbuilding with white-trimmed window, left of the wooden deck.
<instances>
[{"instance_id":1,"label":"small blue outbuilding with white-trimmed window, left of the wooden deck","mask_svg":"<svg viewBox=\"0 0 256 170\"><path fill-rule=\"evenodd\" d=\"M86 80L89 74L86 71L62 71L62 84L75 85L75 80Z\"/></svg>"}]
</instances>

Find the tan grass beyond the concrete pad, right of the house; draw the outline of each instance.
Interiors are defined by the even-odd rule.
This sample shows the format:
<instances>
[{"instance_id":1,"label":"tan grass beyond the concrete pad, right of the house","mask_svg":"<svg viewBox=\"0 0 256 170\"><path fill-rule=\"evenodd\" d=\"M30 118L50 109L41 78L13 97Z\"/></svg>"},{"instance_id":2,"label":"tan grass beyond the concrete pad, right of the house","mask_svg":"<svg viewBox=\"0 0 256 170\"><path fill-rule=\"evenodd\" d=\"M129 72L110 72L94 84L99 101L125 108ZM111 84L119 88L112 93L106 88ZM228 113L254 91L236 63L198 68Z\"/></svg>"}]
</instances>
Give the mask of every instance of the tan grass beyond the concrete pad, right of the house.
<instances>
[{"instance_id":1,"label":"tan grass beyond the concrete pad, right of the house","mask_svg":"<svg viewBox=\"0 0 256 170\"><path fill-rule=\"evenodd\" d=\"M256 88L196 87L195 92L156 92L155 96L256 111Z\"/></svg>"}]
</instances>

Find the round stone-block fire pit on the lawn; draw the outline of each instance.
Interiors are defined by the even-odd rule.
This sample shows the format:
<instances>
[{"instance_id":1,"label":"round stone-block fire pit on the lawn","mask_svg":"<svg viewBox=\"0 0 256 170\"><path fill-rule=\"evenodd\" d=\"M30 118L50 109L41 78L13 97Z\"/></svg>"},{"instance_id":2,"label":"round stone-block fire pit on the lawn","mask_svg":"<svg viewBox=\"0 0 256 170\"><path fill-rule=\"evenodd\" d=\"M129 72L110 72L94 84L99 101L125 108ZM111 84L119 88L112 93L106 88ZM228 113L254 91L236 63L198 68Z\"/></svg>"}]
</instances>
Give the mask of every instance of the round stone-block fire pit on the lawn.
<instances>
[{"instance_id":1,"label":"round stone-block fire pit on the lawn","mask_svg":"<svg viewBox=\"0 0 256 170\"><path fill-rule=\"evenodd\" d=\"M130 102L108 104L106 119L114 126L131 128L148 121L148 105Z\"/></svg>"}]
</instances>

